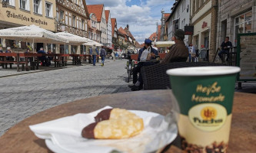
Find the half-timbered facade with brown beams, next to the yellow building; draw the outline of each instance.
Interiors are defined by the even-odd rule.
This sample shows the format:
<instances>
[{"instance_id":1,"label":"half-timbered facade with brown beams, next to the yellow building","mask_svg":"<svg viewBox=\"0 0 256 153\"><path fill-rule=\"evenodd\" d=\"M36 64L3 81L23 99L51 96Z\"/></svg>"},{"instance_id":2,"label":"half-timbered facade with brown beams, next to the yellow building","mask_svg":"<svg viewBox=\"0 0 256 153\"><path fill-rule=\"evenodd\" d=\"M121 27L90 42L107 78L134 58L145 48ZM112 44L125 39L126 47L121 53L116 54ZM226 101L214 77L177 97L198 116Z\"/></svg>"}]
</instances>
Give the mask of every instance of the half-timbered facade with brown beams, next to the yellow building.
<instances>
[{"instance_id":1,"label":"half-timbered facade with brown beams, next to the yellow building","mask_svg":"<svg viewBox=\"0 0 256 153\"><path fill-rule=\"evenodd\" d=\"M56 24L58 32L68 32L88 37L88 10L85 0L56 0ZM82 54L84 48L76 45L59 45L61 54ZM58 52L57 52L58 53Z\"/></svg>"}]
</instances>

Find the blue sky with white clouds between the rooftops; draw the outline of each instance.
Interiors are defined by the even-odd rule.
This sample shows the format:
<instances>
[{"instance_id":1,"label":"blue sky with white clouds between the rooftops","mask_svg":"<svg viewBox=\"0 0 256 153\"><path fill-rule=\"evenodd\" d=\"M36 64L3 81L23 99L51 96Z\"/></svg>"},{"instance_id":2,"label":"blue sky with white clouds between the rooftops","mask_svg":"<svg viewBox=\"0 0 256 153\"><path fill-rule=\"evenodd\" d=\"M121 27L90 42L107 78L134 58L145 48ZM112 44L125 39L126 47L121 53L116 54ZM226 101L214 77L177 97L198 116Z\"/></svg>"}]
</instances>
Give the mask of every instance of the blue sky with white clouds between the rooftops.
<instances>
[{"instance_id":1,"label":"blue sky with white clouds between the rooftops","mask_svg":"<svg viewBox=\"0 0 256 153\"><path fill-rule=\"evenodd\" d=\"M161 23L161 9L171 12L175 0L85 0L87 5L104 4L116 18L118 28L129 24L131 34L140 44L157 30Z\"/></svg>"}]
</instances>

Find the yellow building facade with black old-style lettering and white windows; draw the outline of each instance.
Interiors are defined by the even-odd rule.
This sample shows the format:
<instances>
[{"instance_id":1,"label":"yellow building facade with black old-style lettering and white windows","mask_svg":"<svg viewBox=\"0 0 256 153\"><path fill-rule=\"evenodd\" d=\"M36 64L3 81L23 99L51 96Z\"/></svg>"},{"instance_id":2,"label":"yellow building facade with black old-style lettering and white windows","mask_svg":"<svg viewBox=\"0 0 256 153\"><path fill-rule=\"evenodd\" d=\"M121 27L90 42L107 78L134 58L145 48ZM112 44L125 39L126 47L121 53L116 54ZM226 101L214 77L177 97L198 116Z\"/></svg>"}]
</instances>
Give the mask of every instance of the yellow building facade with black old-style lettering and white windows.
<instances>
[{"instance_id":1,"label":"yellow building facade with black old-style lettering and white windows","mask_svg":"<svg viewBox=\"0 0 256 153\"><path fill-rule=\"evenodd\" d=\"M0 2L0 29L35 24L48 31L56 31L55 17L55 0L9 0L7 4ZM12 47L14 43L22 49L26 49L29 44L0 38L4 48ZM46 44L38 44L38 47L46 47Z\"/></svg>"}]
</instances>

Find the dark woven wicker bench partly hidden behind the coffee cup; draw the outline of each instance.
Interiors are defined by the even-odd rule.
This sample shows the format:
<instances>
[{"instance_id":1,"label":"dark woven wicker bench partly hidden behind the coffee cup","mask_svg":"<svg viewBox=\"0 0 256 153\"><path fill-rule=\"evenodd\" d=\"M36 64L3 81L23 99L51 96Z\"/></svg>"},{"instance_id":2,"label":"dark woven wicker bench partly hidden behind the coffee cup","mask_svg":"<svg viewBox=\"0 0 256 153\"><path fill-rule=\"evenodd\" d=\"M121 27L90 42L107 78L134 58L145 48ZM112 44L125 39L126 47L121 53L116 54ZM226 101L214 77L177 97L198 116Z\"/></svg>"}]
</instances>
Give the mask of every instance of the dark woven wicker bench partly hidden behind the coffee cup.
<instances>
[{"instance_id":1,"label":"dark woven wicker bench partly hidden behind the coffee cup","mask_svg":"<svg viewBox=\"0 0 256 153\"><path fill-rule=\"evenodd\" d=\"M222 63L209 63L209 62L176 62L155 64L148 67L141 68L141 75L143 80L144 90L166 90L171 88L168 74L169 69L180 67L207 67L207 66L224 66Z\"/></svg>"}]
</instances>

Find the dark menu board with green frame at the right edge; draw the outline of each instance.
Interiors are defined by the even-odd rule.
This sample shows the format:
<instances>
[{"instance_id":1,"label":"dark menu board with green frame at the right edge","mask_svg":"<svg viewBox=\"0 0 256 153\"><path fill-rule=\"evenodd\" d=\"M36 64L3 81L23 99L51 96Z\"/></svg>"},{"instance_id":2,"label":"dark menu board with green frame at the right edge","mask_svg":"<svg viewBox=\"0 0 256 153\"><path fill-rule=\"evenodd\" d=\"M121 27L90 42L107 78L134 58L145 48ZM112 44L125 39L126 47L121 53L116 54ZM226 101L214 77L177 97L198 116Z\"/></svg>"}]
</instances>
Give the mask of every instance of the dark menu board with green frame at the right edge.
<instances>
[{"instance_id":1,"label":"dark menu board with green frame at the right edge","mask_svg":"<svg viewBox=\"0 0 256 153\"><path fill-rule=\"evenodd\" d=\"M238 34L238 81L256 81L256 33Z\"/></svg>"}]
</instances>

